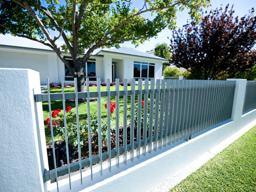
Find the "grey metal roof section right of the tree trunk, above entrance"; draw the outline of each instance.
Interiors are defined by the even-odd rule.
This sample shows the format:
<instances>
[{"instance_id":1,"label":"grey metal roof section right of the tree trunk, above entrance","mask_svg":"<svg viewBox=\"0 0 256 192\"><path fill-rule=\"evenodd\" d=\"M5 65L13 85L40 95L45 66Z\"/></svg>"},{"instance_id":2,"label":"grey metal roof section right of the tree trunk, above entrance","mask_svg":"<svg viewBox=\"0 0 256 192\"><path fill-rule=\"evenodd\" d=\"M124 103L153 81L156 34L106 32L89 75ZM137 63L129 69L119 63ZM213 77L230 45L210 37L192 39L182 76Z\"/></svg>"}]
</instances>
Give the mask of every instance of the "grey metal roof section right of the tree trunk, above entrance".
<instances>
[{"instance_id":1,"label":"grey metal roof section right of the tree trunk, above entrance","mask_svg":"<svg viewBox=\"0 0 256 192\"><path fill-rule=\"evenodd\" d=\"M139 57L147 57L147 58L152 58L152 59L158 59L158 60L164 60L164 61L168 61L167 59L161 58L161 57L157 57L155 55L150 55L148 53L145 52L141 52L135 49L131 49L128 47L120 47L119 49L108 49L108 50L101 50L99 52L97 52L96 54L100 54L102 52L109 52L109 53L120 53L120 54L126 54L126 55L132 55L132 56L139 56Z\"/></svg>"}]
</instances>

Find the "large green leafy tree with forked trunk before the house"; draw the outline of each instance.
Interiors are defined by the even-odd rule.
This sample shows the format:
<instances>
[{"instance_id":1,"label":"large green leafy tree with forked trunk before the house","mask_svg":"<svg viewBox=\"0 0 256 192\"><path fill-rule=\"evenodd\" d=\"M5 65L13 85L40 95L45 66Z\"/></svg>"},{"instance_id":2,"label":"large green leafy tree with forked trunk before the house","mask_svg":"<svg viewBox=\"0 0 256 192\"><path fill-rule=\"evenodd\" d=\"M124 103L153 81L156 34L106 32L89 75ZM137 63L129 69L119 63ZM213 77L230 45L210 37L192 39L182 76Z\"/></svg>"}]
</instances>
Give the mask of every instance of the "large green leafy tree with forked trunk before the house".
<instances>
[{"instance_id":1,"label":"large green leafy tree with forked trunk before the house","mask_svg":"<svg viewBox=\"0 0 256 192\"><path fill-rule=\"evenodd\" d=\"M188 8L191 16L198 18L200 6L208 6L210 0L141 2L141 9L132 9L131 0L66 0L65 4L58 0L0 0L0 33L11 33L51 47L77 78L81 92L85 91L84 67L93 50L118 48L125 41L143 43L166 26L173 29L177 10ZM154 19L141 16L146 12L155 13ZM51 30L59 35L51 36ZM60 37L65 42L62 48L71 54L74 71L56 44Z\"/></svg>"}]
</instances>

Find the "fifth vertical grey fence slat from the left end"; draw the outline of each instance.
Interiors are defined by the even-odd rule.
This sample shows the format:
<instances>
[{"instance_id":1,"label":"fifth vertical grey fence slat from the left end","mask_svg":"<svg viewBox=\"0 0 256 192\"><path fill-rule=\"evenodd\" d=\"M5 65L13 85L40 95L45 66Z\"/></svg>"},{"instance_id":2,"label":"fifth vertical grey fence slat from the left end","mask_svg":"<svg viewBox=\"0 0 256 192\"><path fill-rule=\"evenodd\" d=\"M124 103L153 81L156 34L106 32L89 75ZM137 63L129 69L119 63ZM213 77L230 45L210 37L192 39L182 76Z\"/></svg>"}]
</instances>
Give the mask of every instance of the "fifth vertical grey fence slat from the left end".
<instances>
[{"instance_id":1,"label":"fifth vertical grey fence slat from the left end","mask_svg":"<svg viewBox=\"0 0 256 192\"><path fill-rule=\"evenodd\" d=\"M102 176L102 140L101 140L101 106L100 106L100 78L97 78L97 116L98 116L98 145L99 145L99 172Z\"/></svg>"}]
</instances>

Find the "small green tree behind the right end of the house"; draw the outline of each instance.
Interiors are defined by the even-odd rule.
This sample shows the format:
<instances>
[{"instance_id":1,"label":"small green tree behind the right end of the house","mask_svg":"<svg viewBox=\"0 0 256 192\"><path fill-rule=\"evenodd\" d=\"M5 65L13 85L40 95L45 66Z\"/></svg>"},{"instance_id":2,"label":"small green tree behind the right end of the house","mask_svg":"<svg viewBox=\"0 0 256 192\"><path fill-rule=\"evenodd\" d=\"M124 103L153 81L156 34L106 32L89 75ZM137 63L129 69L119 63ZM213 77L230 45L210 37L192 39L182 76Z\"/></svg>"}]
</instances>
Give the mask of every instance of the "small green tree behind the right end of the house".
<instances>
[{"instance_id":1,"label":"small green tree behind the right end of the house","mask_svg":"<svg viewBox=\"0 0 256 192\"><path fill-rule=\"evenodd\" d=\"M170 66L170 59L172 56L171 53L169 52L168 44L167 43L156 44L154 55L169 60L169 62L163 63L163 70L162 70L162 74L163 74L164 69L167 66Z\"/></svg>"}]
</instances>

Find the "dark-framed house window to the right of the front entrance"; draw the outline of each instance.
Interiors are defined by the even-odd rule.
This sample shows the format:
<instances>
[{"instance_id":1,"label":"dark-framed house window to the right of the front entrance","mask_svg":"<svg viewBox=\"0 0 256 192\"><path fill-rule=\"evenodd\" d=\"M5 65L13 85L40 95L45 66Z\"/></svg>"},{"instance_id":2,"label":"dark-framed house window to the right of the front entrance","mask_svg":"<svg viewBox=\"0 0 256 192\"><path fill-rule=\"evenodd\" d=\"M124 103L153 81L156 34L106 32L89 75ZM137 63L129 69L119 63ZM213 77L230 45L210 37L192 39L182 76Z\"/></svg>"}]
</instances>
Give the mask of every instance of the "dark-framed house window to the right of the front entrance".
<instances>
[{"instance_id":1,"label":"dark-framed house window to the right of the front entrance","mask_svg":"<svg viewBox=\"0 0 256 192\"><path fill-rule=\"evenodd\" d=\"M153 79L155 77L155 63L133 62L133 78Z\"/></svg>"}]
</instances>

